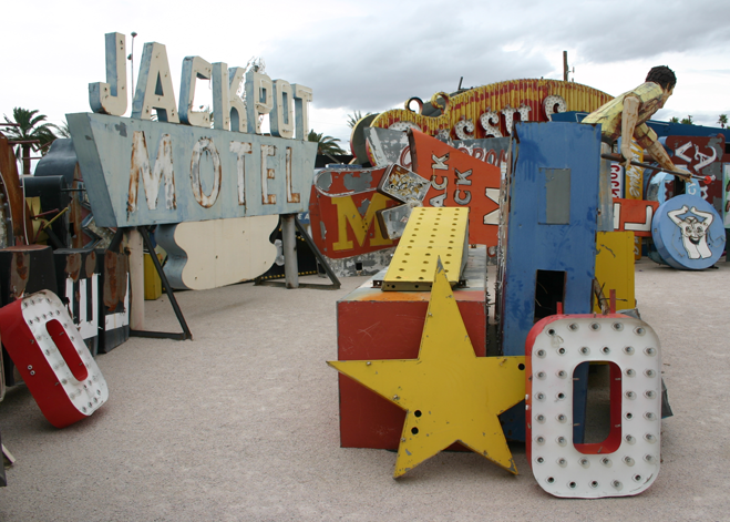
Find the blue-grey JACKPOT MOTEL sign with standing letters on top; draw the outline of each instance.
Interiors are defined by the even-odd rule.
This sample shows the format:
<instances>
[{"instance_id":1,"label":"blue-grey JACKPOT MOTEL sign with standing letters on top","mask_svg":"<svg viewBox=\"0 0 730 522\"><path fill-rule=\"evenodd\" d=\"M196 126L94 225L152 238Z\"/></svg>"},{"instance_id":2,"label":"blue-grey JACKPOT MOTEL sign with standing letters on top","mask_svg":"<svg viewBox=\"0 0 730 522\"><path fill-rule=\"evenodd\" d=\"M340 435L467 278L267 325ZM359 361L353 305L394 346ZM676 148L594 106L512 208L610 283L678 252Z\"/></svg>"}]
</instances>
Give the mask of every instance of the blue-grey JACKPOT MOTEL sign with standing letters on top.
<instances>
[{"instance_id":1,"label":"blue-grey JACKPOT MOTEL sign with standing letters on top","mask_svg":"<svg viewBox=\"0 0 730 522\"><path fill-rule=\"evenodd\" d=\"M311 89L187 57L176 103L165 45L150 42L125 119L125 52L124 34L106 34L106 82L89 86L95 114L68 115L100 226L306 211L317 149L306 141ZM212 81L213 129L192 109L198 79ZM267 115L270 136L260 129Z\"/></svg>"}]
</instances>

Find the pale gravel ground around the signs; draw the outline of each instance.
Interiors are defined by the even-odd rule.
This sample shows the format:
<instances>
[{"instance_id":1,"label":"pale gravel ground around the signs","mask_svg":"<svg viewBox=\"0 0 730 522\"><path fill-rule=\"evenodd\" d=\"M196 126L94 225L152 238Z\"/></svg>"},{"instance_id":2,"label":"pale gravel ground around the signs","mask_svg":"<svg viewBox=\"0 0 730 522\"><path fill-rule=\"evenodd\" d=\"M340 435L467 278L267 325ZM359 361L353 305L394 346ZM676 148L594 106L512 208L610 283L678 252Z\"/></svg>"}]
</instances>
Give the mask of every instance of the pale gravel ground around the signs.
<instances>
[{"instance_id":1,"label":"pale gravel ground around the signs","mask_svg":"<svg viewBox=\"0 0 730 522\"><path fill-rule=\"evenodd\" d=\"M110 400L63 430L24 386L9 389L0 430L17 462L0 520L730 520L730 265L718 266L636 266L675 412L661 471L638 497L553 498L520 443L516 477L448 452L393 480L394 453L341 449L337 373L325 361L337 358L335 303L359 277L335 291L178 293L195 340L133 338L99 356ZM146 307L148 328L177 331L164 298Z\"/></svg>"}]
</instances>

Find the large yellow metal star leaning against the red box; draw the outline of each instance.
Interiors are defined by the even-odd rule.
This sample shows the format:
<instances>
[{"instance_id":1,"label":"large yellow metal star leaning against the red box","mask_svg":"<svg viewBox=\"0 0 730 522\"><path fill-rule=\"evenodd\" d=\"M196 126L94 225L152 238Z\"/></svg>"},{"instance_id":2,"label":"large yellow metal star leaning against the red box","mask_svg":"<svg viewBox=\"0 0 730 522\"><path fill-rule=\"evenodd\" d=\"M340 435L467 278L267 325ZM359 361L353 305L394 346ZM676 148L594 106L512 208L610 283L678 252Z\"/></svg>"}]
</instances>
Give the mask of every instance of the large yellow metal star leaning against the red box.
<instances>
[{"instance_id":1,"label":"large yellow metal star leaning against the red box","mask_svg":"<svg viewBox=\"0 0 730 522\"><path fill-rule=\"evenodd\" d=\"M418 359L327 364L405 410L394 478L461 442L517 474L497 416L525 397L524 357L476 357L441 260Z\"/></svg>"}]
</instances>

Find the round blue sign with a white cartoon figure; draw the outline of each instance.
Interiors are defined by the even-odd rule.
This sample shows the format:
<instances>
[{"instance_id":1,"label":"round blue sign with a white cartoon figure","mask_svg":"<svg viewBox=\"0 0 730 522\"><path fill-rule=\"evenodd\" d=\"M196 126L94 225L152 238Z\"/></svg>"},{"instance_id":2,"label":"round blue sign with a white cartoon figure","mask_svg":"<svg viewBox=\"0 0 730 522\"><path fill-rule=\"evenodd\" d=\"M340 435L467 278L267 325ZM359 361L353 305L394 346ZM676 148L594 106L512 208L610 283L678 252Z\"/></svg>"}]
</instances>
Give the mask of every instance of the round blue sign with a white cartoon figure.
<instances>
[{"instance_id":1,"label":"round blue sign with a white cartoon figure","mask_svg":"<svg viewBox=\"0 0 730 522\"><path fill-rule=\"evenodd\" d=\"M651 221L651 237L669 266L686 270L714 265L726 243L722 218L714 207L687 194L659 206Z\"/></svg>"}]
</instances>

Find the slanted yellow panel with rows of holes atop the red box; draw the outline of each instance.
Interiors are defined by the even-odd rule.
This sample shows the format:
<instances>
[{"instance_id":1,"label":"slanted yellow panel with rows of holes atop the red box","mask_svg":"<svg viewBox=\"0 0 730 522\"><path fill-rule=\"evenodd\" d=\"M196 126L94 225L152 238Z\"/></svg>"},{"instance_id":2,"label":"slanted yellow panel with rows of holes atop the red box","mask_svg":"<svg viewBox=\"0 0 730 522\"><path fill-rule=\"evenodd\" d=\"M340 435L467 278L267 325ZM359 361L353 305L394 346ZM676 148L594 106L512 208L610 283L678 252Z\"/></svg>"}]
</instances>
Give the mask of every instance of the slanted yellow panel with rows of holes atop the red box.
<instances>
[{"instance_id":1,"label":"slanted yellow panel with rows of holes atop the red box","mask_svg":"<svg viewBox=\"0 0 730 522\"><path fill-rule=\"evenodd\" d=\"M418 207L383 279L383 290L430 290L440 257L449 283L459 283L469 237L467 207Z\"/></svg>"}]
</instances>

